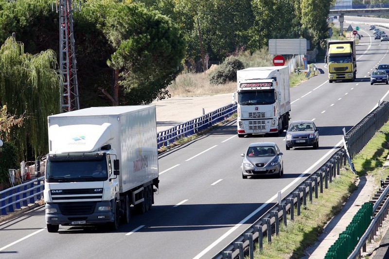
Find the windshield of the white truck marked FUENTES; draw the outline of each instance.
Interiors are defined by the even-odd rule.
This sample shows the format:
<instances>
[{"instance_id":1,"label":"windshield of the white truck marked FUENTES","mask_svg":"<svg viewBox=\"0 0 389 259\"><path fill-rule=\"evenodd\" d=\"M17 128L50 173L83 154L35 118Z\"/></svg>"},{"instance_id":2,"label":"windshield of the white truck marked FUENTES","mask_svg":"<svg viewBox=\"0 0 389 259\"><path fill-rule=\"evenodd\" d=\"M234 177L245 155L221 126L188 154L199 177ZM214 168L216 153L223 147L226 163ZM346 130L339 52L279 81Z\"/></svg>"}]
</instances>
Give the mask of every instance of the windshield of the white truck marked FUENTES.
<instances>
[{"instance_id":1,"label":"windshield of the white truck marked FUENTES","mask_svg":"<svg viewBox=\"0 0 389 259\"><path fill-rule=\"evenodd\" d=\"M241 105L274 104L274 89L239 92L238 102Z\"/></svg>"}]
</instances>

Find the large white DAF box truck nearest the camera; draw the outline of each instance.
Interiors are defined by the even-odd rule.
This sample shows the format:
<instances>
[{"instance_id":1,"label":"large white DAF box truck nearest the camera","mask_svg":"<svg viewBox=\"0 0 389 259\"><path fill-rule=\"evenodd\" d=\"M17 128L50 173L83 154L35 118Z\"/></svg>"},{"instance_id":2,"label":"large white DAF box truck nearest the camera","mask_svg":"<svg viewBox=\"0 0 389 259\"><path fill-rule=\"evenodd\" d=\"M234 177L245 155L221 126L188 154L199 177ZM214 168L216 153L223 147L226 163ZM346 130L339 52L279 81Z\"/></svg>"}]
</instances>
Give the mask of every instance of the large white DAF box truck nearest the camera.
<instances>
[{"instance_id":1,"label":"large white DAF box truck nearest the camera","mask_svg":"<svg viewBox=\"0 0 389 259\"><path fill-rule=\"evenodd\" d=\"M48 117L46 224L130 221L130 206L144 213L158 190L154 105L92 107ZM39 168L37 168L39 171Z\"/></svg>"}]
</instances>

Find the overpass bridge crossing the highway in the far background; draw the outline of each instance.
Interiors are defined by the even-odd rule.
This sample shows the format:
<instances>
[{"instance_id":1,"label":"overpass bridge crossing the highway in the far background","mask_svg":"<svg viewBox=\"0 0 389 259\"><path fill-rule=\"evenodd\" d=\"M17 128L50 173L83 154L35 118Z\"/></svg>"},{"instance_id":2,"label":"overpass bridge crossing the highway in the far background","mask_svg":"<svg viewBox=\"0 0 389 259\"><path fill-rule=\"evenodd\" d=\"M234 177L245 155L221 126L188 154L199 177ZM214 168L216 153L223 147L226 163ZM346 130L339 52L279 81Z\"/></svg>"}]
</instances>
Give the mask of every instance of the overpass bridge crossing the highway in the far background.
<instances>
[{"instance_id":1,"label":"overpass bridge crossing the highway in the far background","mask_svg":"<svg viewBox=\"0 0 389 259\"><path fill-rule=\"evenodd\" d=\"M329 16L338 16L340 34L343 34L344 16L389 15L389 4L356 4L332 6Z\"/></svg>"}]
</instances>

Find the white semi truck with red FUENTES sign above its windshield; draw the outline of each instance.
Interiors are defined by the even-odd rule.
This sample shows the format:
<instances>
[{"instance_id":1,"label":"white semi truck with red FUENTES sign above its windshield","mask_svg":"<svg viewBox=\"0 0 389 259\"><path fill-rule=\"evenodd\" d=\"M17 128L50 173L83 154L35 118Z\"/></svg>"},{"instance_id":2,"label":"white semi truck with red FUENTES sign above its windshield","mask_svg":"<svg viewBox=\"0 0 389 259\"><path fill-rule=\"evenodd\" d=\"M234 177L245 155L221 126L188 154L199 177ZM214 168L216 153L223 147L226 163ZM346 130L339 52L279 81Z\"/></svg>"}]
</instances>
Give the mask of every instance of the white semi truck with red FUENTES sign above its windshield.
<instances>
[{"instance_id":1,"label":"white semi truck with red FUENTES sign above its windshield","mask_svg":"<svg viewBox=\"0 0 389 259\"><path fill-rule=\"evenodd\" d=\"M289 124L290 90L287 66L237 71L238 137L249 134L279 135Z\"/></svg>"}]
</instances>

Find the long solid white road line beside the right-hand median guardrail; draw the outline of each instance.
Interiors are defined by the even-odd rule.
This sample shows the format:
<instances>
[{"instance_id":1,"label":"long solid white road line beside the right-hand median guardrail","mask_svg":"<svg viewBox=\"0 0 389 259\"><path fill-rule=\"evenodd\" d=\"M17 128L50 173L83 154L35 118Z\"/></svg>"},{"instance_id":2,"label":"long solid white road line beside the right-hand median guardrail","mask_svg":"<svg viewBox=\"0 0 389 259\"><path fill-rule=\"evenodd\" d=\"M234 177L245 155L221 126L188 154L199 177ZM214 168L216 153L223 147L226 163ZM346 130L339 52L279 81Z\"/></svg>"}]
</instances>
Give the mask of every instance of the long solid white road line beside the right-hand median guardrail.
<instances>
[{"instance_id":1,"label":"long solid white road line beside the right-hand median guardrail","mask_svg":"<svg viewBox=\"0 0 389 259\"><path fill-rule=\"evenodd\" d=\"M293 186L296 182L298 181L301 181L301 178L302 177L305 177L306 173L308 173L309 171L311 171L314 167L316 167L318 165L318 163L320 163L324 158L327 157L327 155L331 154L334 149L337 149L339 148L339 145L343 143L343 139L339 141L339 143L336 144L336 146L334 146L331 150L329 150L327 152L327 154L323 155L318 161L316 161L315 164L313 164L310 168L308 168L307 170L305 170L304 173L301 173L295 180L293 180L293 182L291 182L290 184L288 184L285 188L283 188L283 190L281 190L281 193L284 192L285 190L288 190L291 186ZM235 231L238 227L240 227L242 224L245 224L252 216L254 216L256 213L258 213L259 211L261 211L265 206L267 206L269 203L273 202L276 198L278 197L278 194L275 194L273 197L271 197L270 199L268 199L261 207L257 208L256 210L254 210L253 212L251 212L246 218L244 218L241 222L239 222L238 224L234 225L233 227L231 227L224 235L222 235L220 238L218 238L215 242L213 242L212 244L210 244L207 248L205 248L203 251L201 251L198 255L196 255L194 257L194 259L199 259L201 258L203 255L205 255L207 252L209 252L213 247L215 247L218 243L222 242L225 238L227 238L233 231Z\"/></svg>"}]
</instances>

